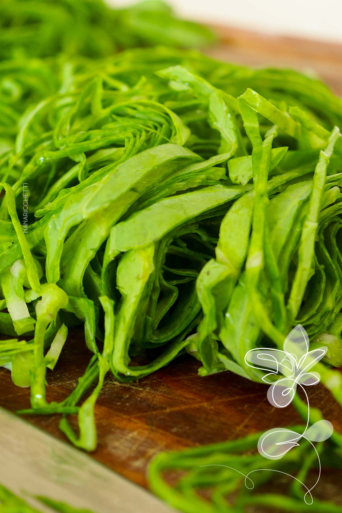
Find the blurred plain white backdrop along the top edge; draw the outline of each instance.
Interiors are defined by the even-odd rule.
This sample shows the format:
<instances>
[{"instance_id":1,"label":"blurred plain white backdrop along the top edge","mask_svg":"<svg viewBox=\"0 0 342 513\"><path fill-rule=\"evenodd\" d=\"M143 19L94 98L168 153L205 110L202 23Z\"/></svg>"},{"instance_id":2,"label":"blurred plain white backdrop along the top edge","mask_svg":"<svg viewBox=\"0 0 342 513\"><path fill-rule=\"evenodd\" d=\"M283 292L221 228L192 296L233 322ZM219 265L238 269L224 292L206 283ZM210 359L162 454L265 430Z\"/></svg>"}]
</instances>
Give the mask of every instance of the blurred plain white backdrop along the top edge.
<instances>
[{"instance_id":1,"label":"blurred plain white backdrop along the top edge","mask_svg":"<svg viewBox=\"0 0 342 513\"><path fill-rule=\"evenodd\" d=\"M115 6L132 0L107 0ZM167 0L179 15L261 32L342 42L342 0Z\"/></svg>"}]
</instances>

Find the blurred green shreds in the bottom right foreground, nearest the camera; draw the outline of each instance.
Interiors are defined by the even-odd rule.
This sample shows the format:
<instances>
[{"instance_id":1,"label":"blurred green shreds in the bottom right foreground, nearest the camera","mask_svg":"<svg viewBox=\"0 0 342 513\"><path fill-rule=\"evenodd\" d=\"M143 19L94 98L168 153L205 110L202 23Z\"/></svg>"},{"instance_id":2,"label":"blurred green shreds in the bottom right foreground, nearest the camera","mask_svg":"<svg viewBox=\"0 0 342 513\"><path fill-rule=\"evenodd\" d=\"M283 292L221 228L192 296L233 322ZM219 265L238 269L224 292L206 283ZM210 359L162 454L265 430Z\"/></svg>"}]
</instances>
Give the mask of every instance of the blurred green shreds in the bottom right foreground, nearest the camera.
<instances>
[{"instance_id":1,"label":"blurred green shreds in the bottom right foreground, nearest the camera","mask_svg":"<svg viewBox=\"0 0 342 513\"><path fill-rule=\"evenodd\" d=\"M300 433L304 426L291 426L291 429ZM284 473L298 472L298 479L303 479L310 466L318 472L317 460L308 461L312 453L307 440L280 460L265 460L255 451L259 436L260 433L255 433L229 442L160 453L149 466L150 486L176 510L185 513L239 513L251 507L260 511L339 513L340 505L330 500L315 498L312 504L306 504L301 483L294 481L295 486L291 487L284 476ZM321 442L316 447L321 464L341 468L339 448L328 446L323 450ZM283 478L279 481L281 485L277 483L281 494L273 492L274 472ZM262 487L263 492L255 491L257 487Z\"/></svg>"}]
</instances>

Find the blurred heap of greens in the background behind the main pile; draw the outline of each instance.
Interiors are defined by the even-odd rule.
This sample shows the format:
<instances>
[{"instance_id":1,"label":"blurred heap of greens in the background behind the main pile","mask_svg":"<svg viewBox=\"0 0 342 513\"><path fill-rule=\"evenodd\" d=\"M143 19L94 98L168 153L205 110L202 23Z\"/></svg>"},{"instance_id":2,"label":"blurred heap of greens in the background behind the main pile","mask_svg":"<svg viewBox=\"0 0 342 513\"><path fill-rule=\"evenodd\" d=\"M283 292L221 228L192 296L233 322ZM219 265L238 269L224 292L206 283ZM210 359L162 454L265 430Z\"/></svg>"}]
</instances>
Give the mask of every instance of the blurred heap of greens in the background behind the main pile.
<instances>
[{"instance_id":1,"label":"blurred heap of greens in the background behind the main pile","mask_svg":"<svg viewBox=\"0 0 342 513\"><path fill-rule=\"evenodd\" d=\"M175 17L160 0L111 9L102 0L2 0L0 60L28 57L106 57L155 44L203 47L213 32Z\"/></svg>"}]
</instances>

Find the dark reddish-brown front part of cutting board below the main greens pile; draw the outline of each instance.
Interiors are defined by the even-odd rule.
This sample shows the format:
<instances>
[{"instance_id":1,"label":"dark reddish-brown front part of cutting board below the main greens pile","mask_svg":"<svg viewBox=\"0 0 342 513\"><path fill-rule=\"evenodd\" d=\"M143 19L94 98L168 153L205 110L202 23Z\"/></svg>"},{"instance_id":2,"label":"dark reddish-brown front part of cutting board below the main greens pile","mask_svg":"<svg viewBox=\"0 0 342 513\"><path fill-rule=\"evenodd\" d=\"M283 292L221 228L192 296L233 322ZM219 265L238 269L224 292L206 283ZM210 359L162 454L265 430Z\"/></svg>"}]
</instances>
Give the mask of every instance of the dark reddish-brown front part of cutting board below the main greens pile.
<instances>
[{"instance_id":1,"label":"dark reddish-brown front part of cutting board below the main greens pile","mask_svg":"<svg viewBox=\"0 0 342 513\"><path fill-rule=\"evenodd\" d=\"M82 331L72 331L58 365L48 374L48 401L67 397L89 358ZM270 405L267 386L231 372L202 378L198 367L197 360L184 355L139 382L119 383L108 374L96 404L98 447L92 457L147 486L147 464L159 451L232 440L301 422L292 406L280 410ZM9 372L0 369L0 406L13 412L28 407L29 393L13 385ZM316 385L309 393L310 405L319 407L324 418L342 432L340 407L329 392ZM23 417L65 440L58 429L58 415Z\"/></svg>"}]
</instances>

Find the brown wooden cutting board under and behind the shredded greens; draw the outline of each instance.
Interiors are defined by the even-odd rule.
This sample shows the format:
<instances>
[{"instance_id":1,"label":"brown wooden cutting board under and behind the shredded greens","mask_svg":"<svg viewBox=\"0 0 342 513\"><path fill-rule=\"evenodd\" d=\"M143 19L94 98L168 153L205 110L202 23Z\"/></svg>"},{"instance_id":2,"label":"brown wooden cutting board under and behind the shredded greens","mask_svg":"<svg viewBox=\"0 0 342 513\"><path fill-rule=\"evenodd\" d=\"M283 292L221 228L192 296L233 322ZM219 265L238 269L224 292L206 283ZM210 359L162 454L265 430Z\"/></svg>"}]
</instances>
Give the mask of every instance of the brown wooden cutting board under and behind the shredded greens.
<instances>
[{"instance_id":1,"label":"brown wooden cutting board under and behind the shredded greens","mask_svg":"<svg viewBox=\"0 0 342 513\"><path fill-rule=\"evenodd\" d=\"M323 77L335 93L342 94L342 45L232 28L218 27L218 31L222 43L210 49L210 55L247 65L311 70ZM71 392L90 356L82 330L72 331L61 360L48 374L48 401L61 401ZM108 375L96 404L98 448L91 456L146 487L147 464L159 451L231 440L300 422L291 406L279 410L269 404L265 385L230 372L200 378L198 367L195 359L182 356L136 383L118 383ZM324 418L342 432L340 407L323 386L310 388L310 405L321 408ZM3 368L0 406L11 411L29 406L29 390L15 387ZM59 416L25 419L65 440L58 430ZM341 479L341 472L325 471L320 489L317 487L318 496L326 498L329 490L329 497L342 504Z\"/></svg>"}]
</instances>

